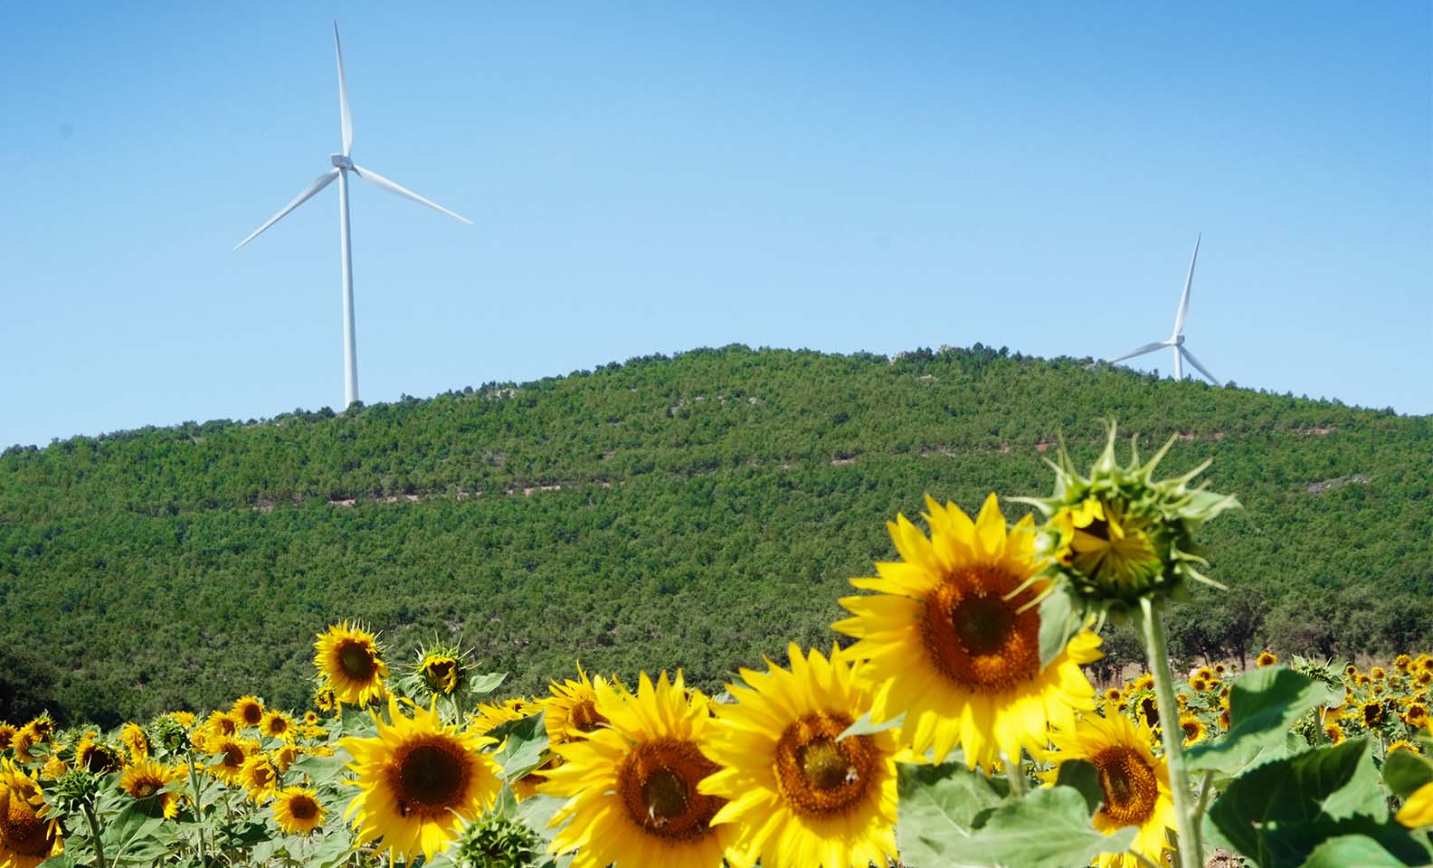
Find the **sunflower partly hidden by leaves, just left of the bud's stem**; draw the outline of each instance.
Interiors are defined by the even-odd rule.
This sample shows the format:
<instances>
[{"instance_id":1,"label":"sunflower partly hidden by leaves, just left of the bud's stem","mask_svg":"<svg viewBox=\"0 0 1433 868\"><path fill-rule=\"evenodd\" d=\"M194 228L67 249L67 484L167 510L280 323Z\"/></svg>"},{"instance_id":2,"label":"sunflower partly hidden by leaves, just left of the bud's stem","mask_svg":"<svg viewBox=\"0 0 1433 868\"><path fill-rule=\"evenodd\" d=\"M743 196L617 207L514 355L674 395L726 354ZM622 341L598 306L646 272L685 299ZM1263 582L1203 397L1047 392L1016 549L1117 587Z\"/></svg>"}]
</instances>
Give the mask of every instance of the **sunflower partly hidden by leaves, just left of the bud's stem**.
<instances>
[{"instance_id":1,"label":"sunflower partly hidden by leaves, just left of the bud's stem","mask_svg":"<svg viewBox=\"0 0 1433 868\"><path fill-rule=\"evenodd\" d=\"M1168 832L1176 831L1174 794L1165 761L1155 759L1149 743L1154 741L1145 726L1135 726L1126 718L1085 715L1076 729L1056 730L1050 741L1056 751L1046 759L1055 768L1042 776L1049 785L1059 775L1059 765L1069 759L1083 759L1099 772L1099 789L1105 796L1095 812L1095 828L1112 835L1126 826L1139 826L1131 849L1155 865L1165 864ZM1099 868L1139 868L1132 854L1102 854Z\"/></svg>"}]
</instances>

